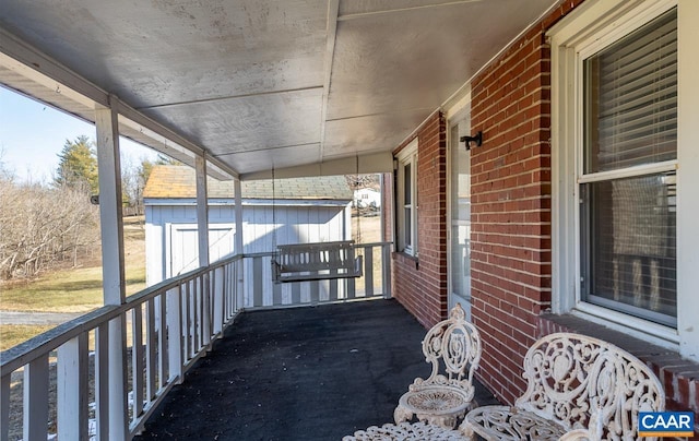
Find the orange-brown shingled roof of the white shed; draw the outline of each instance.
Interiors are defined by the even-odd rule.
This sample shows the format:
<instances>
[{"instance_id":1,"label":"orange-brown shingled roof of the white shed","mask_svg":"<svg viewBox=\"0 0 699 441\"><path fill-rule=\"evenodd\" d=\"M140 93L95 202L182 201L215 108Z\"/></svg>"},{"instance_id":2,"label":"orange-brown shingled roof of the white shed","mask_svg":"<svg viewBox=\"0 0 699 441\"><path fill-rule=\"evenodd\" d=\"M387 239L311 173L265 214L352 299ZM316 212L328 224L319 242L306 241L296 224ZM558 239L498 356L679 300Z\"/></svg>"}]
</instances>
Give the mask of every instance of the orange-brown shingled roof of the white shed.
<instances>
[{"instance_id":1,"label":"orange-brown shingled roof of the white shed","mask_svg":"<svg viewBox=\"0 0 699 441\"><path fill-rule=\"evenodd\" d=\"M245 199L312 199L352 200L352 190L344 176L249 180L241 182ZM233 199L234 181L206 178L209 198ZM146 199L197 198L194 169L187 166L155 166L143 190Z\"/></svg>"}]
</instances>

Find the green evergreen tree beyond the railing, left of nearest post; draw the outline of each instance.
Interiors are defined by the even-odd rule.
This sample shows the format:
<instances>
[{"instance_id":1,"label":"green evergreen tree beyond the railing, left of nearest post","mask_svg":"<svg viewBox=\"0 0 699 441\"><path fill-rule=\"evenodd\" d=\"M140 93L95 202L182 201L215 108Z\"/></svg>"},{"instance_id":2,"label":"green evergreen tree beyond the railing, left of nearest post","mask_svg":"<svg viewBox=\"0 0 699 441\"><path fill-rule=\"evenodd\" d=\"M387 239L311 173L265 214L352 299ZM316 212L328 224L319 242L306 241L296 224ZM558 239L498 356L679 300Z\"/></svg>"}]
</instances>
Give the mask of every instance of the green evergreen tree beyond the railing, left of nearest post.
<instances>
[{"instance_id":1,"label":"green evergreen tree beyond the railing, left of nearest post","mask_svg":"<svg viewBox=\"0 0 699 441\"><path fill-rule=\"evenodd\" d=\"M58 157L60 160L54 178L56 187L67 187L92 194L99 192L97 156L90 138L81 135L73 142L66 140Z\"/></svg>"}]
</instances>

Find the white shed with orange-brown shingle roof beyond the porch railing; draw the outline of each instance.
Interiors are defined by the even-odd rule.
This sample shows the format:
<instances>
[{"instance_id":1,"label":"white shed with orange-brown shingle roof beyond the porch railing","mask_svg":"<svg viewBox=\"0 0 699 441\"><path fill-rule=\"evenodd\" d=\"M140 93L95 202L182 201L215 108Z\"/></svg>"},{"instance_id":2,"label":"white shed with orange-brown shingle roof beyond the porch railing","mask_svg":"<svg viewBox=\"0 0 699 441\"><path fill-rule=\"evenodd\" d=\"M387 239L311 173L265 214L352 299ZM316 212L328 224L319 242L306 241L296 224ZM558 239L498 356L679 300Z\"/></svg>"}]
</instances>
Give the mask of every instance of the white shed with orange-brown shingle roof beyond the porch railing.
<instances>
[{"instance_id":1,"label":"white shed with orange-brown shingle roof beyond the porch railing","mask_svg":"<svg viewBox=\"0 0 699 441\"><path fill-rule=\"evenodd\" d=\"M233 181L208 178L211 262L234 249ZM352 196L344 176L241 182L244 253L277 245L352 239ZM156 166L143 191L146 283L199 266L197 186L187 166Z\"/></svg>"}]
</instances>

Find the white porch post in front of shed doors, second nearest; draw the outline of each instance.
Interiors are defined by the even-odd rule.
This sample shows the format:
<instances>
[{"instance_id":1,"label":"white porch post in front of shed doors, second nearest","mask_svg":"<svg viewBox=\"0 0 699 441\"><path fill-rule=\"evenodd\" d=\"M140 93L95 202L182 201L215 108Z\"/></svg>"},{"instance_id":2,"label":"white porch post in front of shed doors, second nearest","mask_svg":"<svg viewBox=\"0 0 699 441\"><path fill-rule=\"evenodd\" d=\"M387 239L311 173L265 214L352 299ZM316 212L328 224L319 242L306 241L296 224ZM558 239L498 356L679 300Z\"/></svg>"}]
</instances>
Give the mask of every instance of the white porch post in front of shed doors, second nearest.
<instances>
[{"instance_id":1,"label":"white porch post in front of shed doors, second nearest","mask_svg":"<svg viewBox=\"0 0 699 441\"><path fill-rule=\"evenodd\" d=\"M194 168L197 171L197 230L199 239L199 266L209 266L209 195L206 194L206 157L197 156ZM203 275L203 283L198 284L201 289L202 301L202 344L211 342L211 301L210 275Z\"/></svg>"}]
</instances>

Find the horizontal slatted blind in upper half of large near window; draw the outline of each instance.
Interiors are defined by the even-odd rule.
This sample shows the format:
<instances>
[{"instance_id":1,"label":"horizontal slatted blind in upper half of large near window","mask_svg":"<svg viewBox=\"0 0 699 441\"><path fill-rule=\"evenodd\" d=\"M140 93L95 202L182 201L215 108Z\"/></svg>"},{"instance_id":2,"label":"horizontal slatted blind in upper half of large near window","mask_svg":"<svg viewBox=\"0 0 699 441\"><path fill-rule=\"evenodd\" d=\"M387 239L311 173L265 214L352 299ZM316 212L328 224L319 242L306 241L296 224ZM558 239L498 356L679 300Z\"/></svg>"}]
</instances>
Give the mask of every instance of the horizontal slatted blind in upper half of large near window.
<instances>
[{"instance_id":1,"label":"horizontal slatted blind in upper half of large near window","mask_svg":"<svg viewBox=\"0 0 699 441\"><path fill-rule=\"evenodd\" d=\"M677 157L677 12L584 61L585 172Z\"/></svg>"}]
</instances>

